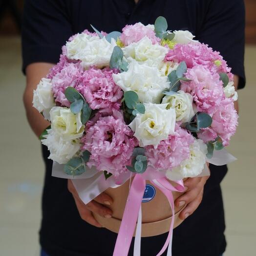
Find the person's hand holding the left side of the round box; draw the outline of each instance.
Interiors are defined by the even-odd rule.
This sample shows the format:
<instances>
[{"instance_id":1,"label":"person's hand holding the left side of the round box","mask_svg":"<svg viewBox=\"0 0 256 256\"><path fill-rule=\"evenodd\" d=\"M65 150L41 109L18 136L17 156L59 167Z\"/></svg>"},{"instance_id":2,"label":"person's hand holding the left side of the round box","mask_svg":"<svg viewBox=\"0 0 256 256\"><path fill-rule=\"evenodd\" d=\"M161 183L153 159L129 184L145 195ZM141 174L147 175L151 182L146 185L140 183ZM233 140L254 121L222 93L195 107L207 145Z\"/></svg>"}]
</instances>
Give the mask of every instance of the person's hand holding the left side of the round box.
<instances>
[{"instance_id":1,"label":"person's hand holding the left side of the round box","mask_svg":"<svg viewBox=\"0 0 256 256\"><path fill-rule=\"evenodd\" d=\"M102 225L93 217L92 213L97 213L105 218L112 217L112 211L106 207L106 205L111 205L113 203L113 199L108 194L101 193L96 198L94 198L94 200L85 205L84 202L80 199L71 180L67 181L67 188L74 197L81 218L89 224L98 228L102 227Z\"/></svg>"}]
</instances>

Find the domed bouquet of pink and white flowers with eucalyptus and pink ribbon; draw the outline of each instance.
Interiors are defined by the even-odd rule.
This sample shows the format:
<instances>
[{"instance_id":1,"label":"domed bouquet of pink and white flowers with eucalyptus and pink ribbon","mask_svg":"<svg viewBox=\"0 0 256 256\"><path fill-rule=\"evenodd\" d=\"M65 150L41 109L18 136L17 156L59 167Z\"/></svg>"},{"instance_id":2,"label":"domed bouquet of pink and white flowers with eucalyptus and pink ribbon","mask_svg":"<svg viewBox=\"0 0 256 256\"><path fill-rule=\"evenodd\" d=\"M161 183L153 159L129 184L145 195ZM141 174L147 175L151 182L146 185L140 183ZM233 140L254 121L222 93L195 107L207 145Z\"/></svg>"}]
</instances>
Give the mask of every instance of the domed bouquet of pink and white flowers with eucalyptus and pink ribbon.
<instances>
[{"instance_id":1,"label":"domed bouquet of pink and white flowers with eucalyptus and pink ribbon","mask_svg":"<svg viewBox=\"0 0 256 256\"><path fill-rule=\"evenodd\" d=\"M236 130L237 93L220 53L189 31L167 30L163 17L126 25L122 33L92 28L66 42L34 91L33 106L51 123L41 140L60 176L104 177L98 193L134 177L114 251L127 255L120 253L124 227L129 222L129 248L146 179L165 194L178 190L167 180L182 191L182 179L204 175L206 162L233 159L223 148Z\"/></svg>"}]
</instances>

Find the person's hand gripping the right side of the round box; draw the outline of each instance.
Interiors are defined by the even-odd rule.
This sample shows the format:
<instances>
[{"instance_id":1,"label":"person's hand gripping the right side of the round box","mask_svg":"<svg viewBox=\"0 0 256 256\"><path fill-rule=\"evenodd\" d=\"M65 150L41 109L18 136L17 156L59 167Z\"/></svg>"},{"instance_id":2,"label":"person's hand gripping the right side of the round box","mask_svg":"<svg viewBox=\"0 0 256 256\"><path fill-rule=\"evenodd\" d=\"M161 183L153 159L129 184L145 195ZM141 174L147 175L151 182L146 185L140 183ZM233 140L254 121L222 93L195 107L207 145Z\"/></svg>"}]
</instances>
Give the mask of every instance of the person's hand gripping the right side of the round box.
<instances>
[{"instance_id":1,"label":"person's hand gripping the right side of the round box","mask_svg":"<svg viewBox=\"0 0 256 256\"><path fill-rule=\"evenodd\" d=\"M187 218L197 209L202 201L204 185L209 177L210 176L188 178L184 182L184 186L187 188L187 190L183 195L175 200L176 207L187 204L179 214L180 219Z\"/></svg>"}]
</instances>

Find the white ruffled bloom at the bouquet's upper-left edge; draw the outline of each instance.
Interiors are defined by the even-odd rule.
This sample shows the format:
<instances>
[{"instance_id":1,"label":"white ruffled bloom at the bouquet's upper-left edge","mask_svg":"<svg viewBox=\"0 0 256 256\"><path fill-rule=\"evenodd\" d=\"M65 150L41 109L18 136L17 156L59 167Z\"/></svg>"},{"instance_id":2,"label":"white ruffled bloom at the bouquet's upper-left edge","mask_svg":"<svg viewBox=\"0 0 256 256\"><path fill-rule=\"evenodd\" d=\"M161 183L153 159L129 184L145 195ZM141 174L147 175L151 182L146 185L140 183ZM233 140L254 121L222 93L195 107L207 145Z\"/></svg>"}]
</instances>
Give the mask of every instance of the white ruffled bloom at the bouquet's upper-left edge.
<instances>
[{"instance_id":1,"label":"white ruffled bloom at the bouquet's upper-left edge","mask_svg":"<svg viewBox=\"0 0 256 256\"><path fill-rule=\"evenodd\" d=\"M115 46L114 39L111 39L111 43L108 43L105 37L100 39L98 36L82 33L66 43L67 58L81 60L85 68L92 65L102 68L109 65Z\"/></svg>"}]
</instances>

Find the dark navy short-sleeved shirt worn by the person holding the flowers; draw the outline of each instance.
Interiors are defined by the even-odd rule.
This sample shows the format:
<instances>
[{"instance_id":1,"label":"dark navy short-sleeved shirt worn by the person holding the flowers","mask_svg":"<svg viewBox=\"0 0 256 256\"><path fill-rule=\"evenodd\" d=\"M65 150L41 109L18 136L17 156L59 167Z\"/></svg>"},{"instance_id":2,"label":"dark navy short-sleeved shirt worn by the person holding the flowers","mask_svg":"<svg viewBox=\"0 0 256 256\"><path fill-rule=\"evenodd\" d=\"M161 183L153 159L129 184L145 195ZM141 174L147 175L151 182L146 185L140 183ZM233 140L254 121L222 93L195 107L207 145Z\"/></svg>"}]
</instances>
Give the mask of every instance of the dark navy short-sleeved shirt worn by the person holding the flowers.
<instances>
[{"instance_id":1,"label":"dark navy short-sleeved shirt worn by the person holding the flowers","mask_svg":"<svg viewBox=\"0 0 256 256\"><path fill-rule=\"evenodd\" d=\"M126 24L153 24L164 16L170 30L189 30L196 40L220 51L245 85L243 0L26 0L22 27L23 71L35 62L57 63L68 38L90 24L106 32ZM83 221L65 179L51 176L52 161L43 147L46 174L40 242L50 256L111 256L116 234ZM173 256L219 256L225 251L220 182L227 167L211 166L199 208L173 234ZM166 234L142 238L141 255L155 256ZM132 246L130 254L132 255Z\"/></svg>"}]
</instances>

